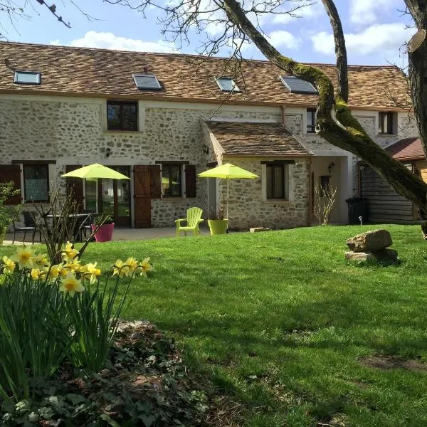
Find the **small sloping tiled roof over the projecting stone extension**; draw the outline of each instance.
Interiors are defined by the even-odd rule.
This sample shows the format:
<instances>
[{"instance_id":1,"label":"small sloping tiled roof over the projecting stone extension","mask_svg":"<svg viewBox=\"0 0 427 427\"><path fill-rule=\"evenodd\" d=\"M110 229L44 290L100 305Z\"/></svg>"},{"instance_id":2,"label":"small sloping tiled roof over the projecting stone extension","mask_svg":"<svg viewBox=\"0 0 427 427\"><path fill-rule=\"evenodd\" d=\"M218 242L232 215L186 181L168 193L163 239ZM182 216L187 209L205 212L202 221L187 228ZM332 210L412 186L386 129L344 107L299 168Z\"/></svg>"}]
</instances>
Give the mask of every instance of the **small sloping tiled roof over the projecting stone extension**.
<instances>
[{"instance_id":1,"label":"small sloping tiled roof over the projecting stone extension","mask_svg":"<svg viewBox=\"0 0 427 427\"><path fill-rule=\"evenodd\" d=\"M206 122L225 153L277 157L309 156L310 152L278 123Z\"/></svg>"}]
</instances>

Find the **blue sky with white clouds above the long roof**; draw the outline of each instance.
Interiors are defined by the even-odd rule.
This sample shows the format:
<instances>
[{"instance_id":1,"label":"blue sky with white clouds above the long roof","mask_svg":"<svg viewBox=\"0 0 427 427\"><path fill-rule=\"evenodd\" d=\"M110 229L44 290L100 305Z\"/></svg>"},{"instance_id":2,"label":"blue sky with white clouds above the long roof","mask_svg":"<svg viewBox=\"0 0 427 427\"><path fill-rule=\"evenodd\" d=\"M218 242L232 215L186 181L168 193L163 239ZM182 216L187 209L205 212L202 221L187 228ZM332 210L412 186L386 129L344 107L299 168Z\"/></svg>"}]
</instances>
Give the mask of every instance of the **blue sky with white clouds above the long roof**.
<instances>
[{"instance_id":1,"label":"blue sky with white clouds above the long roof","mask_svg":"<svg viewBox=\"0 0 427 427\"><path fill-rule=\"evenodd\" d=\"M209 0L201 1L209 3ZM176 50L176 45L164 40L162 28L157 24L159 11L155 9L146 11L144 19L141 13L124 6L105 4L102 0L75 0L85 12L96 18L89 21L68 0L62 0L56 4L58 14L72 26L66 28L55 20L46 7L38 5L35 0L29 0L28 3L34 5L32 8L27 7L31 19L17 20L16 29L5 16L0 15L2 32L10 41L130 51ZM402 65L402 45L414 33L413 28L405 29L410 21L399 11L404 10L403 0L336 0L335 3L346 36L349 63ZM292 4L295 2L285 1L285 9ZM304 62L333 63L332 32L321 1L301 9L298 14L302 17L265 17L261 22L263 31L273 45L287 56ZM211 35L215 35L218 30L218 26L206 28L206 32ZM195 53L201 41L203 34L193 33L190 46L183 46L183 51ZM223 56L226 53L221 51ZM263 58L253 46L246 46L244 55L247 58Z\"/></svg>"}]
</instances>

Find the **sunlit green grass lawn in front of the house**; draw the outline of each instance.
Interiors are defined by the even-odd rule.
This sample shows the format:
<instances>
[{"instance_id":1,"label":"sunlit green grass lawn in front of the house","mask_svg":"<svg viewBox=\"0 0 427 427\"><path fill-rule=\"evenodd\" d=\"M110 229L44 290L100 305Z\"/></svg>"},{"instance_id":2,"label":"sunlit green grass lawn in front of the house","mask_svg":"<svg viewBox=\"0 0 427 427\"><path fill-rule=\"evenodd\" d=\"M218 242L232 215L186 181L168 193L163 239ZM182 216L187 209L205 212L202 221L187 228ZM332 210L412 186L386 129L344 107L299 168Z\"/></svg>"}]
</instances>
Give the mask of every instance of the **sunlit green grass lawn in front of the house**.
<instances>
[{"instance_id":1,"label":"sunlit green grass lawn in front of the house","mask_svg":"<svg viewBox=\"0 0 427 427\"><path fill-rule=\"evenodd\" d=\"M123 314L175 337L191 369L244 406L243 426L427 426L427 371L358 361L427 361L427 243L419 226L384 228L401 265L344 260L369 226L94 243L83 260L151 257Z\"/></svg>"}]
</instances>

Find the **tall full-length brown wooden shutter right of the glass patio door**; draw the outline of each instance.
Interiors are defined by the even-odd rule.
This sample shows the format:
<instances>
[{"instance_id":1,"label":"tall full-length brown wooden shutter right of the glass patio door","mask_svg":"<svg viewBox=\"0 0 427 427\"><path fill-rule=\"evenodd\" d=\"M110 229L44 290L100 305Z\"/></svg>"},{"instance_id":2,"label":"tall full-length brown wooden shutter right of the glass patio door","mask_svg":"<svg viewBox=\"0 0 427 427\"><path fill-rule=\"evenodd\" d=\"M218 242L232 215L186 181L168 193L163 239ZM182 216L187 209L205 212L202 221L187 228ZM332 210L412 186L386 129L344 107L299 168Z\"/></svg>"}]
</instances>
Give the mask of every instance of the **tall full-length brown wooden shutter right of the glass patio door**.
<instances>
[{"instance_id":1,"label":"tall full-length brown wooden shutter right of the glass patio door","mask_svg":"<svg viewBox=\"0 0 427 427\"><path fill-rule=\"evenodd\" d=\"M151 227L150 167L134 166L135 227Z\"/></svg>"}]
</instances>

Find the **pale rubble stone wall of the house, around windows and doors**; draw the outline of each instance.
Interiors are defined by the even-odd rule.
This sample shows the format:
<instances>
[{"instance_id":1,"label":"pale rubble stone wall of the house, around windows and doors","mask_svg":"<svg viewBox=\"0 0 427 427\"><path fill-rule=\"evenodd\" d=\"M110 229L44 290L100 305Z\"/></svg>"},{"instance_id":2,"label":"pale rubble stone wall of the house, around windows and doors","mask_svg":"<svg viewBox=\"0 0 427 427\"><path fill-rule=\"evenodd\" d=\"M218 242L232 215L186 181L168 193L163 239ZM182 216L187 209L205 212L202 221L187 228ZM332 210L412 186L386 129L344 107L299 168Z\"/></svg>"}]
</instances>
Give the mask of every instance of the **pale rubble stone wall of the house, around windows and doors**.
<instances>
[{"instance_id":1,"label":"pale rubble stone wall of the house, around windows and doors","mask_svg":"<svg viewBox=\"0 0 427 427\"><path fill-rule=\"evenodd\" d=\"M409 125L399 135L376 135L374 112L356 112L362 125L374 139L385 146L405 136L413 136ZM106 130L105 100L62 97L0 95L1 162L12 160L56 160L50 167L52 181L63 184L58 176L65 164L100 162L110 165L154 164L157 161L182 161L196 165L196 173L209 162L222 162L221 150L211 146L209 132L201 125L206 120L275 120L281 122L277 108L221 107L184 105L165 102L139 102L139 132ZM399 113L399 127L405 115ZM293 108L285 114L285 125L315 155L345 155L317 135L305 134L305 109ZM209 147L209 151L207 148ZM110 149L110 156L106 156ZM208 152L206 152L208 151ZM321 154L322 153L322 154ZM260 160L234 160L245 169L261 173ZM307 225L309 218L309 161L300 159L293 167L295 187L292 201L263 200L262 181L232 181L230 220L235 228L268 226L284 228ZM356 182L356 174L354 175ZM221 184L219 193L224 187ZM357 188L354 185L354 188ZM207 184L197 179L194 199L164 198L152 200L152 226L173 226L176 218L186 215L190 206L207 211ZM131 194L131 196L133 193Z\"/></svg>"}]
</instances>

